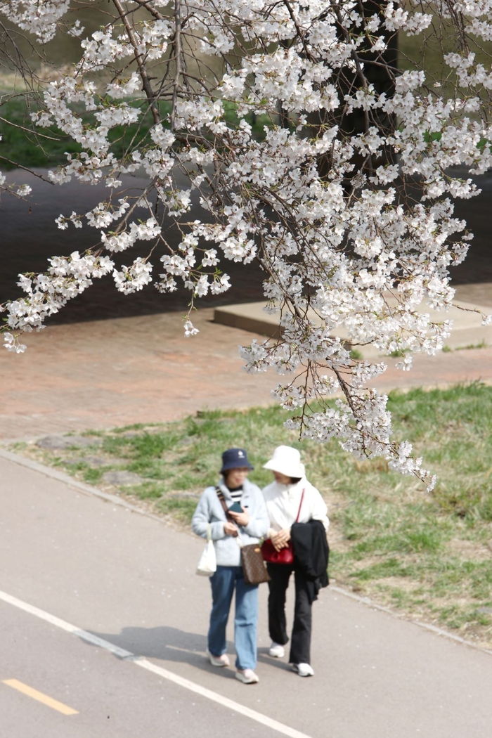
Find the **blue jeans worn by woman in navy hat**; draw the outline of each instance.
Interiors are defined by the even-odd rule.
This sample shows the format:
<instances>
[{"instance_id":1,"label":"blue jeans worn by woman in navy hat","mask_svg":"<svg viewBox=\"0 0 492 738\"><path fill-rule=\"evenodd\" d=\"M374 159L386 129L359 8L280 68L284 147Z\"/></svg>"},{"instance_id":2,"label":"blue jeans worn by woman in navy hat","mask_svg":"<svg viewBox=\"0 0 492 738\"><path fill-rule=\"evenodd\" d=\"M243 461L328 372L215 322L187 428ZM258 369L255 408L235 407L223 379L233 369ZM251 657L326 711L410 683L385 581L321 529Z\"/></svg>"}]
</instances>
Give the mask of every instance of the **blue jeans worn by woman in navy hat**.
<instances>
[{"instance_id":1,"label":"blue jeans worn by woman in navy hat","mask_svg":"<svg viewBox=\"0 0 492 738\"><path fill-rule=\"evenodd\" d=\"M243 570L240 566L218 566L215 574L210 577L210 584L212 585L212 612L208 635L209 652L214 656L221 656L227 650L226 625L235 589L236 669L254 669L257 655L258 585L245 584Z\"/></svg>"}]
</instances>

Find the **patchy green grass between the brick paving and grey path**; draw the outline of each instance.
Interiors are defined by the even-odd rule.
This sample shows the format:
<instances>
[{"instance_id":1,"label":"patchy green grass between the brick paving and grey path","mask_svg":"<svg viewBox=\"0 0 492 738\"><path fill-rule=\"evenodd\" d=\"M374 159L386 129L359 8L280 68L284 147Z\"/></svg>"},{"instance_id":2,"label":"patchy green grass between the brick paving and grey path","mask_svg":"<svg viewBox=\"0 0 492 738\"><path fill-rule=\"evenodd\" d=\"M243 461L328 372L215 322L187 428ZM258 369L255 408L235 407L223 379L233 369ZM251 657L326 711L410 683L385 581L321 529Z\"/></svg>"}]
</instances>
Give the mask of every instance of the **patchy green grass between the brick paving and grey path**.
<instances>
[{"instance_id":1,"label":"patchy green grass between the brick paving and grey path","mask_svg":"<svg viewBox=\"0 0 492 738\"><path fill-rule=\"evenodd\" d=\"M436 472L428 494L413 477L392 472L385 461L361 461L336 441L302 441L283 427L278 407L203 411L182 421L136 425L101 434L91 449L48 452L34 444L15 450L105 489L104 472L136 472L142 483L120 487L156 514L180 525L204 487L216 483L221 452L245 446L259 486L271 480L263 463L279 444L302 450L308 477L328 503L331 576L415 618L459 630L492 644L492 387L392 392L395 438L409 438ZM89 434L90 435L90 434ZM103 466L91 468L94 455ZM69 462L80 459L75 465ZM103 462L101 462L103 463Z\"/></svg>"}]
</instances>

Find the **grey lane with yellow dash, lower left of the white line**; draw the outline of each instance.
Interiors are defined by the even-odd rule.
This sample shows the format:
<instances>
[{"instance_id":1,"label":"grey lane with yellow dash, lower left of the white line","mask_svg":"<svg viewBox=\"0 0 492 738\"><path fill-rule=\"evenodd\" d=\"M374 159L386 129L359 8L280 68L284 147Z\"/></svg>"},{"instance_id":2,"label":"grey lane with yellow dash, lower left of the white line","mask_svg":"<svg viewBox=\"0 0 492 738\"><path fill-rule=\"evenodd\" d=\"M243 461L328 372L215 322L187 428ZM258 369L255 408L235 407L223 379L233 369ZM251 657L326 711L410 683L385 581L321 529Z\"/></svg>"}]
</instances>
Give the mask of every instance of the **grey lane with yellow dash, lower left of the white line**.
<instances>
[{"instance_id":1,"label":"grey lane with yellow dash, lower left of the white line","mask_svg":"<svg viewBox=\"0 0 492 738\"><path fill-rule=\"evenodd\" d=\"M1 663L1 735L10 738L167 738L198 735L200 725L238 738L260 735L251 720L115 658L8 604L0 604L9 647ZM5 684L12 677L51 706ZM42 697L41 697L42 698ZM72 714L60 710L70 708ZM263 732L264 731L264 732ZM204 731L207 735L207 731ZM268 738L277 735L261 729Z\"/></svg>"}]
</instances>

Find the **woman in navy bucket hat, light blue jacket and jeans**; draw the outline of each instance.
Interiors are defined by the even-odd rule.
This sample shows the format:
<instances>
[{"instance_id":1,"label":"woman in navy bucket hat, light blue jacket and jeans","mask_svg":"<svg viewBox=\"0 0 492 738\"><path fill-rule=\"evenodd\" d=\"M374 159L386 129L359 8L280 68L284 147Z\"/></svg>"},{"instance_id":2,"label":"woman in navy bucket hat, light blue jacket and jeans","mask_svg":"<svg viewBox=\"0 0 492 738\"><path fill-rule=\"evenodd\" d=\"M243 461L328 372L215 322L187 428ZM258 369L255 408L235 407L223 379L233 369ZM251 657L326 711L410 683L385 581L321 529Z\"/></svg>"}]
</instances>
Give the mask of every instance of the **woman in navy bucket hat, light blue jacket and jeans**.
<instances>
[{"instance_id":1,"label":"woman in navy bucket hat, light blue jacket and jeans","mask_svg":"<svg viewBox=\"0 0 492 738\"><path fill-rule=\"evenodd\" d=\"M257 683L258 585L246 584L240 565L240 545L259 542L268 531L268 513L261 490L248 477L253 469L244 449L222 454L221 480L207 487L193 514L193 531L214 542L217 570L210 577L212 612L207 657L212 666L229 666L226 625L232 595L236 593L234 644L236 677ZM239 545L238 545L239 544Z\"/></svg>"}]
</instances>

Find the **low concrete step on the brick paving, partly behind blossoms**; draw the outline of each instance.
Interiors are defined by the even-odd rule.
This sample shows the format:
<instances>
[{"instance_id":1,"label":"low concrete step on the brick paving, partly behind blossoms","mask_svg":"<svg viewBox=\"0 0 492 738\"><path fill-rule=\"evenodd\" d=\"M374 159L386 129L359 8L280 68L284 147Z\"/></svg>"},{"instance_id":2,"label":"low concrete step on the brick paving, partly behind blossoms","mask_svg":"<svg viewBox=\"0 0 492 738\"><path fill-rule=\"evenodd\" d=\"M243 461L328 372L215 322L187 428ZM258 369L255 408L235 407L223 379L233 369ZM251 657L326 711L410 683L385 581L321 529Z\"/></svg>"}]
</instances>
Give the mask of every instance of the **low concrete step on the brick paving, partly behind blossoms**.
<instances>
[{"instance_id":1,"label":"low concrete step on the brick paving, partly behind blossoms","mask_svg":"<svg viewBox=\"0 0 492 738\"><path fill-rule=\"evenodd\" d=\"M276 339L280 336L279 317L278 314L268 314L265 311L265 306L265 302L260 302L241 303L215 308L214 320L215 323L229 325L232 328L241 328L243 331ZM465 308L465 310L460 308ZM447 349L477 348L483 345L492 345L492 325L482 325L480 315L475 312L468 312L470 309L478 309L484 314L492 313L490 306L479 306L473 303L465 303L462 300L459 303L455 303L447 313L432 310L424 304L420 306L420 310L429 313L431 319L435 322L442 320L453 321L454 328L451 336L446 339L445 343ZM315 322L319 322L319 319L314 315L313 319ZM343 327L340 327L336 331L336 335L348 342L348 334ZM354 346L354 348L358 347ZM373 346L361 346L359 350L364 356L364 359L381 356Z\"/></svg>"}]
</instances>

